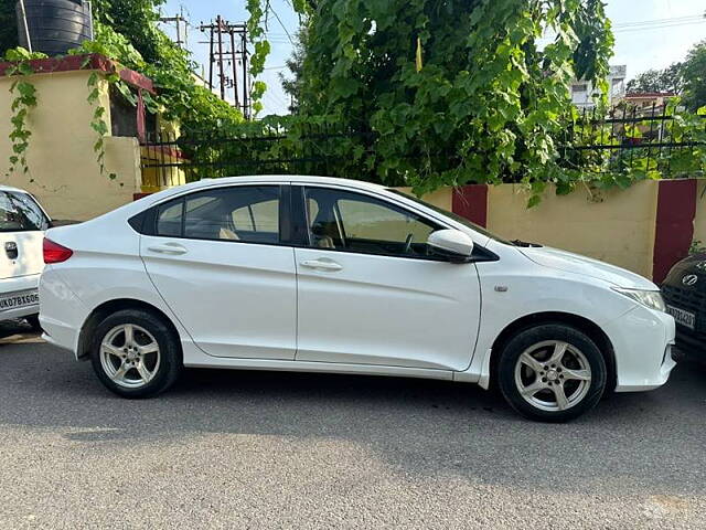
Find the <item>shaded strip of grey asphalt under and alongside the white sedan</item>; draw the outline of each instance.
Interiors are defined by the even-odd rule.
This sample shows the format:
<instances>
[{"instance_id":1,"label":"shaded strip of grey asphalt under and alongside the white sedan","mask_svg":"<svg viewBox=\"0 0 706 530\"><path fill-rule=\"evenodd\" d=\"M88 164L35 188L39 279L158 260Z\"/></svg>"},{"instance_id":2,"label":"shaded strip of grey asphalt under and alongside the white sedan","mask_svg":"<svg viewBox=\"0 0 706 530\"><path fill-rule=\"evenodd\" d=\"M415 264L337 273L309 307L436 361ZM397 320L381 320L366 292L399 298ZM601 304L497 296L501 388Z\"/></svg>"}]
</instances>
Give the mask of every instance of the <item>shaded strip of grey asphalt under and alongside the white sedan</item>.
<instances>
[{"instance_id":1,"label":"shaded strip of grey asphalt under and alongside the white sedan","mask_svg":"<svg viewBox=\"0 0 706 530\"><path fill-rule=\"evenodd\" d=\"M47 344L0 348L0 424L50 427L77 444L238 434L342 439L394 469L486 484L596 492L706 492L706 370L614 394L563 425L526 421L475 385L417 379L186 370L168 393L130 401L90 364Z\"/></svg>"}]
</instances>

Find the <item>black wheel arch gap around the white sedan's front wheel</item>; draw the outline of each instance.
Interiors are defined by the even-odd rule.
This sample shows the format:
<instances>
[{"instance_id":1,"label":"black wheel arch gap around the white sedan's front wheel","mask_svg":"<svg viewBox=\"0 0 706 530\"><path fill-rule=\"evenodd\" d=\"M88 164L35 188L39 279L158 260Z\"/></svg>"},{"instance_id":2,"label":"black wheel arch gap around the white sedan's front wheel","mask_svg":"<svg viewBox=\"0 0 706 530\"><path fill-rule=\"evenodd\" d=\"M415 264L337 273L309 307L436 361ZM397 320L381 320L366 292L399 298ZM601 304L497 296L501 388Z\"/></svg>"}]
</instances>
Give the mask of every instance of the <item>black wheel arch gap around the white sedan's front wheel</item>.
<instances>
[{"instance_id":1,"label":"black wheel arch gap around the white sedan's front wheel","mask_svg":"<svg viewBox=\"0 0 706 530\"><path fill-rule=\"evenodd\" d=\"M610 341L610 338L600 328L600 326L598 326L592 320L579 315L561 311L546 311L525 315L524 317L521 317L509 324L500 332L491 348L491 384L495 384L498 377L498 364L500 362L500 353L503 351L503 348L507 343L507 341L524 329L534 328L536 326L546 324L561 324L565 326L571 326L573 328L576 328L579 331L586 333L593 342L596 342L596 346L606 360L606 368L608 369L608 385L606 390L608 392L612 392L618 384L618 373L616 369L616 351L613 349L612 342Z\"/></svg>"}]
</instances>

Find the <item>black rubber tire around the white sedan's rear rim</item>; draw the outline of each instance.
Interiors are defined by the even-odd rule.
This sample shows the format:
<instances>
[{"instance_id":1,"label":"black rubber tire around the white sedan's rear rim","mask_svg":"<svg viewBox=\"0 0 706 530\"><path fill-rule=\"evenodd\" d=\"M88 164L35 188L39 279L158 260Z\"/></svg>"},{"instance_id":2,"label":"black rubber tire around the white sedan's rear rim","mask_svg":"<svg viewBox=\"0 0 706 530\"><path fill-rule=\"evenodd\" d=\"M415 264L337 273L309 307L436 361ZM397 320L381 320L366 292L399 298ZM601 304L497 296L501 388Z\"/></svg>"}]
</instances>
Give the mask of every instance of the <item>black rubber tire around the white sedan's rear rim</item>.
<instances>
[{"instance_id":1,"label":"black rubber tire around the white sedan's rear rim","mask_svg":"<svg viewBox=\"0 0 706 530\"><path fill-rule=\"evenodd\" d=\"M152 379L139 388L125 388L116 383L101 362L101 342L108 333L121 325L132 325L148 331L159 346L159 367ZM169 389L183 369L182 351L176 333L162 320L142 309L124 309L106 317L94 332L90 362L100 382L122 398L151 398ZM119 361L118 361L119 362ZM132 372L137 375L137 370Z\"/></svg>"}]
</instances>

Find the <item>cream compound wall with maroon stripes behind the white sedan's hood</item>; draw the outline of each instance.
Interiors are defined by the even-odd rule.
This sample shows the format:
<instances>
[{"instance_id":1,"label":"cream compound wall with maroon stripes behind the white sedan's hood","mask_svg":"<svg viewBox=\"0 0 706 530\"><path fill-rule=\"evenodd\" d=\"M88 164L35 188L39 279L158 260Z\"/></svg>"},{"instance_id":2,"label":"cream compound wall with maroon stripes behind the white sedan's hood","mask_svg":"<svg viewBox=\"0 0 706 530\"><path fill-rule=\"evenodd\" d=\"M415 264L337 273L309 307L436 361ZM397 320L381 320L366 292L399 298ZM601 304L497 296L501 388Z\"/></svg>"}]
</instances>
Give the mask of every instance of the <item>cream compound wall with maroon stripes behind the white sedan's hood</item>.
<instances>
[{"instance_id":1,"label":"cream compound wall with maroon stripes behind the white sedan's hood","mask_svg":"<svg viewBox=\"0 0 706 530\"><path fill-rule=\"evenodd\" d=\"M584 254L657 283L687 255L693 240L706 243L703 180L642 181L598 195L588 190L556 195L549 189L532 209L518 184L473 184L446 193L453 212L502 237Z\"/></svg>"}]
</instances>

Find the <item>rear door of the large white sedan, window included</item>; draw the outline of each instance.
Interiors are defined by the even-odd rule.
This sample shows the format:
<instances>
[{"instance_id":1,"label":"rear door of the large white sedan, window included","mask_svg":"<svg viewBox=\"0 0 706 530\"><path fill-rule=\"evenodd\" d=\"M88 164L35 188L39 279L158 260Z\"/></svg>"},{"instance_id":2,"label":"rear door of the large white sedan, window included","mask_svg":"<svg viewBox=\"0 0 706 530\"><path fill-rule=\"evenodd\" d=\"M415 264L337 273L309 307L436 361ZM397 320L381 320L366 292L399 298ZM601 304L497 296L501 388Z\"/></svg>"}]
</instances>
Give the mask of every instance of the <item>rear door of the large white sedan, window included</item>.
<instances>
[{"instance_id":1,"label":"rear door of the large white sedan, window included","mask_svg":"<svg viewBox=\"0 0 706 530\"><path fill-rule=\"evenodd\" d=\"M156 206L146 220L140 253L147 272L208 354L295 359L295 256L280 227L287 190L206 189Z\"/></svg>"}]
</instances>

